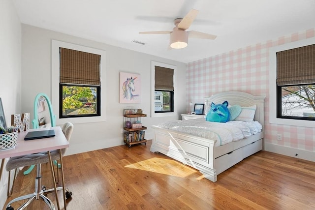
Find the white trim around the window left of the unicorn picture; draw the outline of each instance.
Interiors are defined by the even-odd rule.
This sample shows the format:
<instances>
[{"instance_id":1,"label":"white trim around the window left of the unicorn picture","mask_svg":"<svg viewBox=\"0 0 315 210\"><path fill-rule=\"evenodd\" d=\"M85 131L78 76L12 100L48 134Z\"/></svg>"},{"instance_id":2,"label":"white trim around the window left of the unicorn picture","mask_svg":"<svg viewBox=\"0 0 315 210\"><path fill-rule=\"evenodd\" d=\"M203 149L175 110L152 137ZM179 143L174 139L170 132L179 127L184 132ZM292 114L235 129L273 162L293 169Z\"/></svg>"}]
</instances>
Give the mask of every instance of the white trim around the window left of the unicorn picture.
<instances>
[{"instance_id":1,"label":"white trim around the window left of the unicorn picture","mask_svg":"<svg viewBox=\"0 0 315 210\"><path fill-rule=\"evenodd\" d=\"M67 48L72 50L78 50L87 53L98 54L101 56L100 66L100 77L101 82L106 81L106 51L85 47L81 45L71 44L67 42L52 40L52 105L54 113L58 113L56 116L56 124L63 124L69 119L72 123L87 123L87 122L102 122L106 121L106 84L101 83L100 85L100 116L79 116L74 118L60 118L60 55L59 48ZM71 84L70 84L71 85ZM92 86L91 86L92 87ZM93 86L94 87L94 86Z\"/></svg>"}]
</instances>

